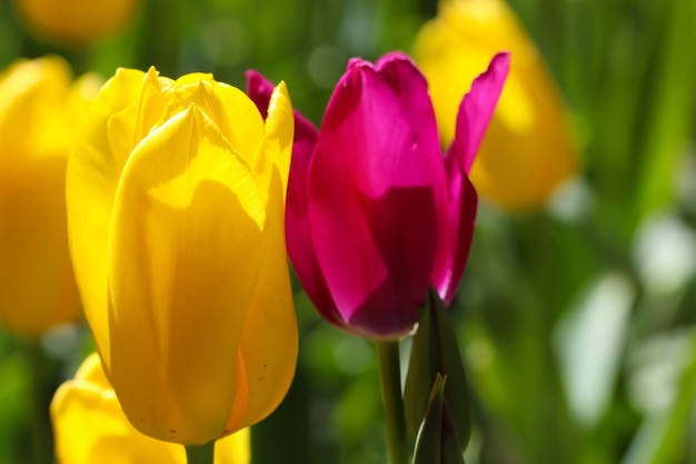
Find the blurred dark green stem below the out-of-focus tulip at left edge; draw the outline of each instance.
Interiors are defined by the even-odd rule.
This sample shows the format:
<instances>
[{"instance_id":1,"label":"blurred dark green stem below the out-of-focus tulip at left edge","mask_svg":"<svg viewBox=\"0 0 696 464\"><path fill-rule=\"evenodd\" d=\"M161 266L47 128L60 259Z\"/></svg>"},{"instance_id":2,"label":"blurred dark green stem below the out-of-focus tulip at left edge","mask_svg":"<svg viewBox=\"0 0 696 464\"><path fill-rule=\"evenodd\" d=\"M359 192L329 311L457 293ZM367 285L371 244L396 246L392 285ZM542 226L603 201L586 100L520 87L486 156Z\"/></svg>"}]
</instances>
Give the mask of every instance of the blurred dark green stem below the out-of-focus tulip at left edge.
<instances>
[{"instance_id":1,"label":"blurred dark green stem below the out-of-focus tulip at left edge","mask_svg":"<svg viewBox=\"0 0 696 464\"><path fill-rule=\"evenodd\" d=\"M49 417L51 365L38 340L24 345L24 355L29 364L31 394L31 462L46 464L53 460L53 435Z\"/></svg>"}]
</instances>

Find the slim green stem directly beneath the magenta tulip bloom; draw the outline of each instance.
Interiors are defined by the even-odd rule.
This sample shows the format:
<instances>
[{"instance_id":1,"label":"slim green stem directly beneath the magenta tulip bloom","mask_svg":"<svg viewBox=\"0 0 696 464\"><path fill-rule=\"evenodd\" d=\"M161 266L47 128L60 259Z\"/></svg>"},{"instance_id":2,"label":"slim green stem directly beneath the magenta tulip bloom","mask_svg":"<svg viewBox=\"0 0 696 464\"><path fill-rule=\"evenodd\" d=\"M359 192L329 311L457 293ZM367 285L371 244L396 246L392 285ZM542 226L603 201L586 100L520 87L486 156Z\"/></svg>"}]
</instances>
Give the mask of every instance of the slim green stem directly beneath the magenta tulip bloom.
<instances>
[{"instance_id":1,"label":"slim green stem directly beneath the magenta tulip bloom","mask_svg":"<svg viewBox=\"0 0 696 464\"><path fill-rule=\"evenodd\" d=\"M379 357L381 399L385 407L387 428L387 455L389 464L407 464L406 418L401 399L401 364L399 343L375 340Z\"/></svg>"}]
</instances>

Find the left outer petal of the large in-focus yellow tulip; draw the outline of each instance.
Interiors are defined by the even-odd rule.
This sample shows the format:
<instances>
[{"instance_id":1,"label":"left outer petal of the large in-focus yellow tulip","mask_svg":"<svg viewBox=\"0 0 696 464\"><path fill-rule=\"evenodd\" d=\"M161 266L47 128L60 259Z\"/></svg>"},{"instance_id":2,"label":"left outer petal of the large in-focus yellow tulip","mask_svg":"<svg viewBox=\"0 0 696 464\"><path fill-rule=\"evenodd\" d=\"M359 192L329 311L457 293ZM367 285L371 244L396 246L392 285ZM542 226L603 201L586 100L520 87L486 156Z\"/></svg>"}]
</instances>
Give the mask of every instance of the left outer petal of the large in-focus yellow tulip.
<instances>
[{"instance_id":1,"label":"left outer petal of the large in-focus yellow tulip","mask_svg":"<svg viewBox=\"0 0 696 464\"><path fill-rule=\"evenodd\" d=\"M108 231L113 198L127 155L115 152L109 120L138 101L143 73L119 69L101 89L87 115L82 136L68 162L66 200L70 253L84 313L105 363L109 365ZM123 137L132 139L135 122Z\"/></svg>"}]
</instances>

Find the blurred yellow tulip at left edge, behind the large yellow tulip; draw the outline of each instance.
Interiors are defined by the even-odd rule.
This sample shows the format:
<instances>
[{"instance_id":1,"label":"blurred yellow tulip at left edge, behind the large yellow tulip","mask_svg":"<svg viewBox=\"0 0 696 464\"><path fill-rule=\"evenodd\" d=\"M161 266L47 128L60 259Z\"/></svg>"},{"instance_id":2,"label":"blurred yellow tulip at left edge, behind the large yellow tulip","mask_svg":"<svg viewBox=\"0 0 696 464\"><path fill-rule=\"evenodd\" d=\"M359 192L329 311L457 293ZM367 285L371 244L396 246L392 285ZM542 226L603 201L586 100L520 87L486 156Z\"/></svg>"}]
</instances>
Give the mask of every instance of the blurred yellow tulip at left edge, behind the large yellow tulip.
<instances>
[{"instance_id":1,"label":"blurred yellow tulip at left edge, behind the large yellow tulip","mask_svg":"<svg viewBox=\"0 0 696 464\"><path fill-rule=\"evenodd\" d=\"M66 226L64 176L101 82L72 81L57 57L0 73L0 324L38 336L80 315Z\"/></svg>"}]
</instances>

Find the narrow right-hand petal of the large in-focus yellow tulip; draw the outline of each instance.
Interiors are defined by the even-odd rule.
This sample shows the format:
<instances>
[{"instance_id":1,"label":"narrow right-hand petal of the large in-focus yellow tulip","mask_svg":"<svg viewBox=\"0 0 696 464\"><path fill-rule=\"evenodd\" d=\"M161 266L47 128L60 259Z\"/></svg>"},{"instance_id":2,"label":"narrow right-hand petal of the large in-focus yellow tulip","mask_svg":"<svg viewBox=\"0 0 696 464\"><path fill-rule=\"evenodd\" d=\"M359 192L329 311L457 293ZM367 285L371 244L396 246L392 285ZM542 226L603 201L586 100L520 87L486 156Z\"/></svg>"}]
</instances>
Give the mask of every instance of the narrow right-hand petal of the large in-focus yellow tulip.
<instances>
[{"instance_id":1,"label":"narrow right-hand petal of the large in-focus yellow tulip","mask_svg":"<svg viewBox=\"0 0 696 464\"><path fill-rule=\"evenodd\" d=\"M249 403L241 417L230 416L227 430L255 424L270 414L285 397L298 352L297 322L285 244L285 192L292 150L292 108L285 83L271 97L266 119L267 138L258 155L257 169L267 170L268 217L265 256L253 300L241 336L240 352L249 388Z\"/></svg>"}]
</instances>

